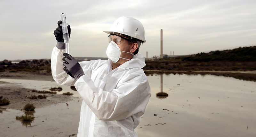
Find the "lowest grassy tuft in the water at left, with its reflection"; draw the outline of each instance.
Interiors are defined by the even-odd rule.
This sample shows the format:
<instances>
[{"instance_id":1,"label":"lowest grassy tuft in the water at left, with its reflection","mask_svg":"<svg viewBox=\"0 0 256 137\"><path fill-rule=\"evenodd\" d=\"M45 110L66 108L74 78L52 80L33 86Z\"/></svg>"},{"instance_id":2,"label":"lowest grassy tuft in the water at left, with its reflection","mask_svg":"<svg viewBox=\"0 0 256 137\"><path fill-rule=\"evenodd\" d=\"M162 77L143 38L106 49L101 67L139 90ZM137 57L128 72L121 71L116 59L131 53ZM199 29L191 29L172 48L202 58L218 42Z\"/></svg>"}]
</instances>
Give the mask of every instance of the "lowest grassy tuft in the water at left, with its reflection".
<instances>
[{"instance_id":1,"label":"lowest grassy tuft in the water at left, with its reflection","mask_svg":"<svg viewBox=\"0 0 256 137\"><path fill-rule=\"evenodd\" d=\"M24 111L24 115L22 116L16 116L16 120L20 120L22 126L28 127L28 125L31 127L31 123L34 122L34 113L36 111Z\"/></svg>"}]
</instances>

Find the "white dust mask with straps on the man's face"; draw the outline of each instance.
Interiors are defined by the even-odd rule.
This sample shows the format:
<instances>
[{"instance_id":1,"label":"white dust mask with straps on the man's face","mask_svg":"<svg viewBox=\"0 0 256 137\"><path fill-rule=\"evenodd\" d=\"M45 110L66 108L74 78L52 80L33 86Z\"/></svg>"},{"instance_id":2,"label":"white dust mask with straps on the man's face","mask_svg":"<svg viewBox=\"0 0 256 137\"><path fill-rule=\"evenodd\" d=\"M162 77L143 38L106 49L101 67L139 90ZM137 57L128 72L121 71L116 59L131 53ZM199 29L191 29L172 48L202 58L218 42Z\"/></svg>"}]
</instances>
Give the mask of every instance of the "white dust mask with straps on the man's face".
<instances>
[{"instance_id":1,"label":"white dust mask with straps on the man's face","mask_svg":"<svg viewBox=\"0 0 256 137\"><path fill-rule=\"evenodd\" d=\"M126 52L126 51L122 51L122 52L132 54L131 52ZM121 56L120 48L113 40L109 43L106 54L112 63L116 63L119 60L119 58L123 58L123 57L120 57ZM127 58L123 58L123 59L130 60Z\"/></svg>"}]
</instances>

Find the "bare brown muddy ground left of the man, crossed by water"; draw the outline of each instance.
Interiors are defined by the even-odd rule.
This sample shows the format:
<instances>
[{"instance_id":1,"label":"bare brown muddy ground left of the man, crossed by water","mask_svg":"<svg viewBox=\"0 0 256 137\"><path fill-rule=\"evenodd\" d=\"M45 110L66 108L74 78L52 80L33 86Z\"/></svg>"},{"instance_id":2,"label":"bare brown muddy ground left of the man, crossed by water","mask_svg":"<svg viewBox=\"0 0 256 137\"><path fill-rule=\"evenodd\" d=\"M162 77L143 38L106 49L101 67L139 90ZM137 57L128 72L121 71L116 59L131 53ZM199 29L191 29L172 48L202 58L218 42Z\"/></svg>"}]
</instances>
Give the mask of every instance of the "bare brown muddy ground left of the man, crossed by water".
<instances>
[{"instance_id":1,"label":"bare brown muddy ground left of the man, crossed by water","mask_svg":"<svg viewBox=\"0 0 256 137\"><path fill-rule=\"evenodd\" d=\"M0 79L29 79L29 80L47 80L54 81L52 75L38 74L34 72L0 72ZM29 92L28 92L29 91ZM57 104L60 102L66 102L72 100L74 97L62 95L62 94L41 94L46 95L46 99L29 99L31 95L40 95L40 93L32 92L31 89L21 87L16 83L9 83L0 81L0 96L9 99L10 104L6 106L0 106L2 108L10 109L23 109L28 103L33 103L36 108Z\"/></svg>"}]
</instances>

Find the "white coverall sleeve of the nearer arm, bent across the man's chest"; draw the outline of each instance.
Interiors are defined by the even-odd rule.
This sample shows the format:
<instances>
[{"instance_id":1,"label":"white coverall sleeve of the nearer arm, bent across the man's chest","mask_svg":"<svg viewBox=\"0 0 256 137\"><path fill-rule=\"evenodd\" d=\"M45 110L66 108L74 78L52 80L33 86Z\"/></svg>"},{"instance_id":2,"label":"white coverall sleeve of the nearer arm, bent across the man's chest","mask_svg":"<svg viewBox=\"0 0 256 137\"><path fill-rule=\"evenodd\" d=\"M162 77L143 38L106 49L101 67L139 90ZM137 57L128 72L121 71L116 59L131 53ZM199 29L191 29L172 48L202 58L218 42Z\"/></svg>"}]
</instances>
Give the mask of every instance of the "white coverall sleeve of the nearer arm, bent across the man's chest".
<instances>
[{"instance_id":1,"label":"white coverall sleeve of the nearer arm, bent across the man's chest","mask_svg":"<svg viewBox=\"0 0 256 137\"><path fill-rule=\"evenodd\" d=\"M123 120L136 113L144 113L150 96L147 77L133 72L120 80L111 92L94 86L92 80L84 75L75 87L85 103L100 120Z\"/></svg>"}]
</instances>

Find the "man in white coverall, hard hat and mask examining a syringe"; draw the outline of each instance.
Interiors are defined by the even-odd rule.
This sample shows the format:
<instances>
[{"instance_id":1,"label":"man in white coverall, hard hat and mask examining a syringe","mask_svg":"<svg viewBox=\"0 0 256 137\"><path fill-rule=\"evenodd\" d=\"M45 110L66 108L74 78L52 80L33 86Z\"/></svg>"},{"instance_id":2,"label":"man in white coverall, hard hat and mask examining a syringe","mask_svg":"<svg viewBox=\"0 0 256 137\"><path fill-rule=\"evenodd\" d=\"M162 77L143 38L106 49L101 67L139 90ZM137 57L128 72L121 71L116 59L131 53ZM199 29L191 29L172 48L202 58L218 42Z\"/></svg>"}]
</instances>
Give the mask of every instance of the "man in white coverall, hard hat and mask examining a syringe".
<instances>
[{"instance_id":1,"label":"man in white coverall, hard hat and mask examining a syringe","mask_svg":"<svg viewBox=\"0 0 256 137\"><path fill-rule=\"evenodd\" d=\"M108 60L77 62L65 53L61 21L54 31L52 76L60 85L75 85L83 101L78 137L136 137L134 129L148 104L150 87L138 54L146 42L143 25L135 18L116 19L109 34ZM70 26L68 26L70 35ZM67 75L68 74L68 75Z\"/></svg>"}]
</instances>

